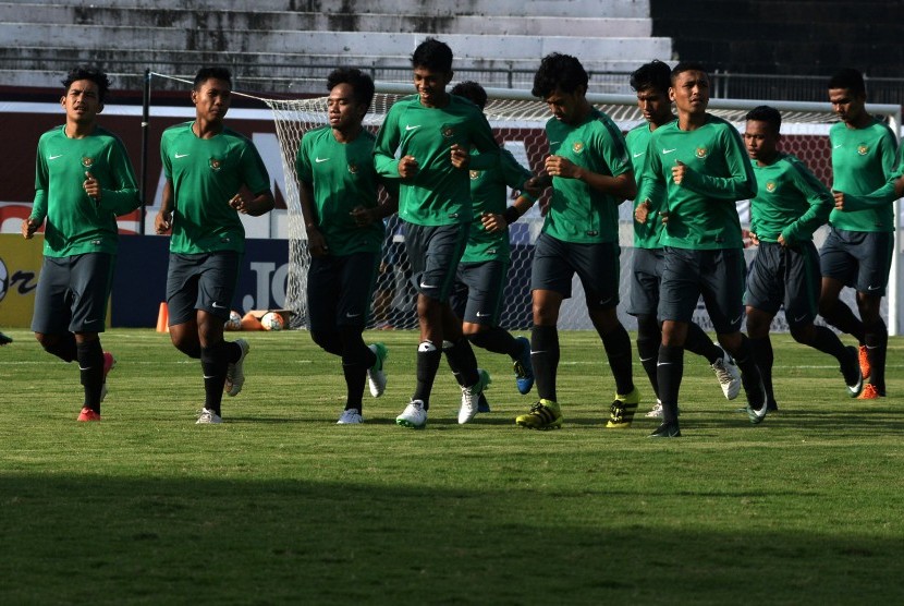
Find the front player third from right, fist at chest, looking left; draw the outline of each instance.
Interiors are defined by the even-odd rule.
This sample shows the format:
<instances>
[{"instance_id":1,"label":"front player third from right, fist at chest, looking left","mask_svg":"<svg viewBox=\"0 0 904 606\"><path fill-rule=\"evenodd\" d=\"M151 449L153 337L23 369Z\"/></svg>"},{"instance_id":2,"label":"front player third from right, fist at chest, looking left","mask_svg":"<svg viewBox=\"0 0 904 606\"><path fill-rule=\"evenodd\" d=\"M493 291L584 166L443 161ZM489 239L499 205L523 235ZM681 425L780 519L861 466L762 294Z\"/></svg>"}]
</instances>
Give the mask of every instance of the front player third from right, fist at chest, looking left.
<instances>
[{"instance_id":1,"label":"front player third from right, fist at chest, looking left","mask_svg":"<svg viewBox=\"0 0 904 606\"><path fill-rule=\"evenodd\" d=\"M688 325L703 294L719 343L734 357L747 393L747 414L758 424L767 413L766 391L744 319L744 252L735 202L756 194L756 177L737 130L707 113L709 76L695 63L672 70L669 97L679 119L657 129L647 147L640 198L661 201L668 220L659 317L662 343L657 362L662 424L650 437L681 436L679 390ZM663 192L664 190L664 192Z\"/></svg>"}]
</instances>

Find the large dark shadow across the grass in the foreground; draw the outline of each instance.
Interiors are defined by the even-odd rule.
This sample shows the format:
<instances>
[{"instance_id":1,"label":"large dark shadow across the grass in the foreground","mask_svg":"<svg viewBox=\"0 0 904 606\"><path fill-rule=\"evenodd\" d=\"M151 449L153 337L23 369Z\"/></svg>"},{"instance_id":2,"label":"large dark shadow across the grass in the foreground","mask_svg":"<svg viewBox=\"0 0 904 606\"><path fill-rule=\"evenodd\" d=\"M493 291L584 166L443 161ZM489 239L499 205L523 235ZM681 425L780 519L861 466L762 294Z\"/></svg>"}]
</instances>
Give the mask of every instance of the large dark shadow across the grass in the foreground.
<instances>
[{"instance_id":1,"label":"large dark shadow across the grass in the foreground","mask_svg":"<svg viewBox=\"0 0 904 606\"><path fill-rule=\"evenodd\" d=\"M668 505L794 496L4 474L0 603L900 603L900 536Z\"/></svg>"}]
</instances>

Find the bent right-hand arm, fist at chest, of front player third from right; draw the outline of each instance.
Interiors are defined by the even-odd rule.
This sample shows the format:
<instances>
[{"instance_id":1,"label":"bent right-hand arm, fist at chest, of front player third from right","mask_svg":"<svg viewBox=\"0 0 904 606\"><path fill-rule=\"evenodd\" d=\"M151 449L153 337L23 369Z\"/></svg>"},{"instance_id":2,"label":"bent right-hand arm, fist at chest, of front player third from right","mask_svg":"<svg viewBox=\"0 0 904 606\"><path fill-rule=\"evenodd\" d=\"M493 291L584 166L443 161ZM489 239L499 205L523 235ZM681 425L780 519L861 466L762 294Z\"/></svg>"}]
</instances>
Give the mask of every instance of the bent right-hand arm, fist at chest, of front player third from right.
<instances>
[{"instance_id":1,"label":"bent right-hand arm, fist at chest, of front player third from right","mask_svg":"<svg viewBox=\"0 0 904 606\"><path fill-rule=\"evenodd\" d=\"M672 167L672 179L679 186L710 198L730 202L749 199L756 195L757 179L744 143L736 130L729 129L730 126L723 129L720 137L729 177L703 174L676 160Z\"/></svg>"}]
</instances>

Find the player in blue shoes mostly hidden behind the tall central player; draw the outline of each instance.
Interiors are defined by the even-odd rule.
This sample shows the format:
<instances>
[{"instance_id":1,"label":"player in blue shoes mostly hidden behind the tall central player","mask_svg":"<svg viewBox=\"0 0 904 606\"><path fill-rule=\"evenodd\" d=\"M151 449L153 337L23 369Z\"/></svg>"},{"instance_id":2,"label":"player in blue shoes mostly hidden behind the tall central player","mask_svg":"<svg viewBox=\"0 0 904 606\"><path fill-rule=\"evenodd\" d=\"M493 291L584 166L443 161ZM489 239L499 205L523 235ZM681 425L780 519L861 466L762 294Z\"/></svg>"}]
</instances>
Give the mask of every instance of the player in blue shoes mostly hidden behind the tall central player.
<instances>
[{"instance_id":1,"label":"player in blue shoes mostly hidden behind the tall central player","mask_svg":"<svg viewBox=\"0 0 904 606\"><path fill-rule=\"evenodd\" d=\"M459 83L452 94L468 99L481 111L487 106L487 92L476 82ZM486 170L472 167L471 202L474 217L480 220L471 223L457 275L459 281L467 287L462 332L473 344L512 359L515 385L522 395L534 387L530 341L513 337L499 326L499 317L512 255L508 225L536 202L524 187L533 177L504 147L499 150L496 166ZM512 206L505 201L506 186L521 192Z\"/></svg>"}]
</instances>

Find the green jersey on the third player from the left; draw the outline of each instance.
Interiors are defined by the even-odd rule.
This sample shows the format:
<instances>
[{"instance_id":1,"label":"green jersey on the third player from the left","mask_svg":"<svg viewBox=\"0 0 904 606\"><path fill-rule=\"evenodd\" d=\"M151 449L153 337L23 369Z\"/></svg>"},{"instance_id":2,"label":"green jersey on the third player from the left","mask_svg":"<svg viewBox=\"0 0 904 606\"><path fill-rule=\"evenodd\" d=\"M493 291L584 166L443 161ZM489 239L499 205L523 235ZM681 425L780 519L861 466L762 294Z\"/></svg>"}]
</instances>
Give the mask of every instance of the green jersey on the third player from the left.
<instances>
[{"instance_id":1,"label":"green jersey on the third player from the left","mask_svg":"<svg viewBox=\"0 0 904 606\"><path fill-rule=\"evenodd\" d=\"M374 140L369 131L362 130L353 141L340 143L330 126L322 126L305 133L298 147L295 171L314 192L313 220L331 255L382 249L383 222L358 227L351 216L353 208L378 205Z\"/></svg>"}]
</instances>

